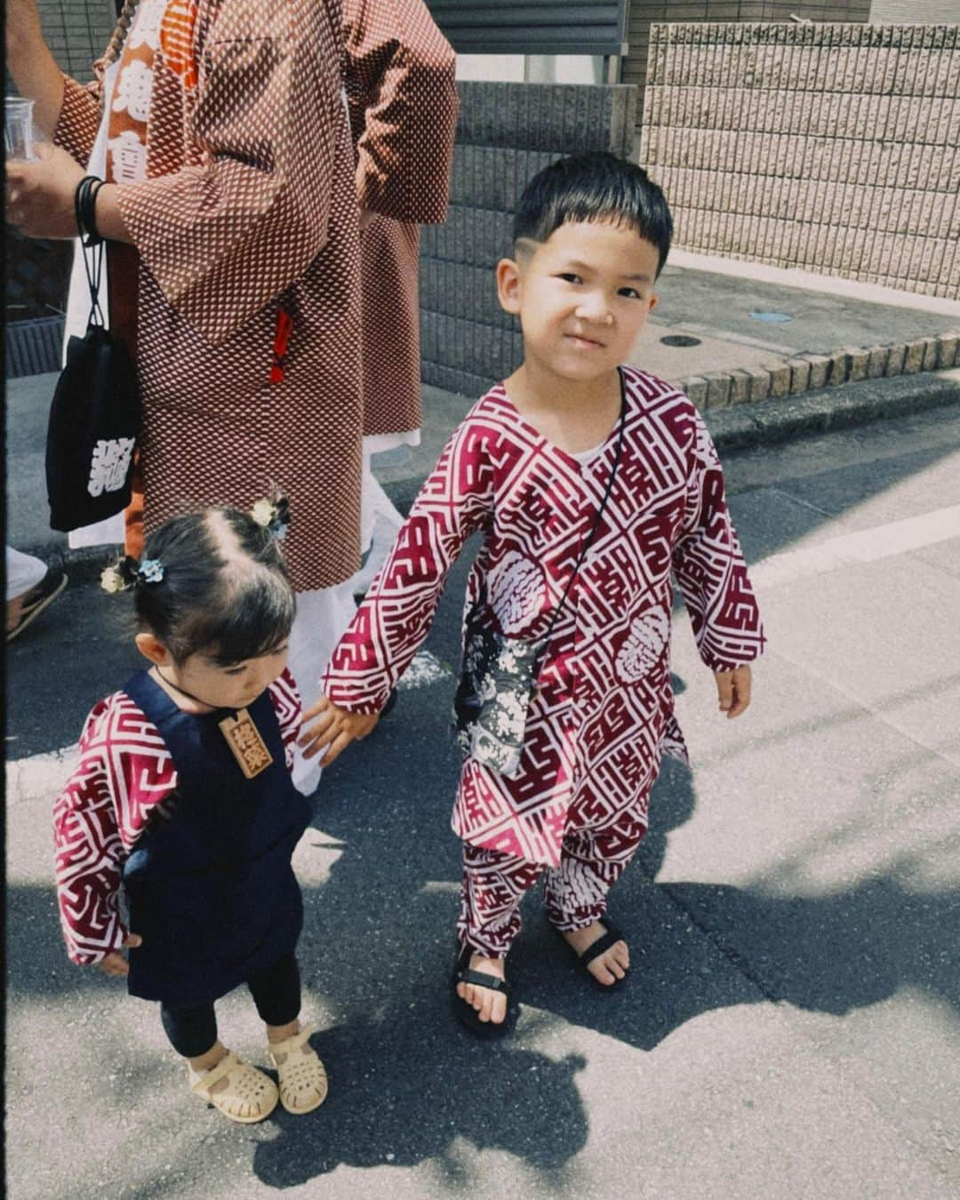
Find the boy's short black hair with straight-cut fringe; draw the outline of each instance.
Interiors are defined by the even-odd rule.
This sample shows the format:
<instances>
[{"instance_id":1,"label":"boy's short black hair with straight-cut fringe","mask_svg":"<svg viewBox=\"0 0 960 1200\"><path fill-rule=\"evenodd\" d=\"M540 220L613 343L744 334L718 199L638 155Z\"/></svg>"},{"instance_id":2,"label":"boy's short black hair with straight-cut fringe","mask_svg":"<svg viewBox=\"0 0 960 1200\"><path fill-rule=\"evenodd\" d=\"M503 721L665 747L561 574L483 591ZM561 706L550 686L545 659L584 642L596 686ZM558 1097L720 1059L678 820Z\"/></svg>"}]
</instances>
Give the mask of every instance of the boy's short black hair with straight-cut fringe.
<instances>
[{"instance_id":1,"label":"boy's short black hair with straight-cut fringe","mask_svg":"<svg viewBox=\"0 0 960 1200\"><path fill-rule=\"evenodd\" d=\"M568 221L629 226L660 252L664 269L673 218L662 190L636 163L605 151L558 158L527 184L514 217L514 242L546 241Z\"/></svg>"}]
</instances>

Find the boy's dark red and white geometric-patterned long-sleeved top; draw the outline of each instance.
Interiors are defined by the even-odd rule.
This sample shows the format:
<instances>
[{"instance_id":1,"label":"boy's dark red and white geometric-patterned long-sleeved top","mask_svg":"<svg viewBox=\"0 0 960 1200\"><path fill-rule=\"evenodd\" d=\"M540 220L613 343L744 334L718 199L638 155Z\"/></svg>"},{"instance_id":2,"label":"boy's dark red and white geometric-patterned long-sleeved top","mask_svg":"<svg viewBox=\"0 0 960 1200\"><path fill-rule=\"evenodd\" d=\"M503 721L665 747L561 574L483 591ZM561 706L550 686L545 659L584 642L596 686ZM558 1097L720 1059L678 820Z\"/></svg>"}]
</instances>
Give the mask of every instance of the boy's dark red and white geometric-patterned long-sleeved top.
<instances>
[{"instance_id":1,"label":"boy's dark red and white geometric-patterned long-sleeved top","mask_svg":"<svg viewBox=\"0 0 960 1200\"><path fill-rule=\"evenodd\" d=\"M646 823L664 749L683 754L670 683L671 574L701 658L750 662L763 632L724 479L691 401L623 368L626 418L607 509L557 619L533 696L521 773L467 757L454 829L466 841L556 866L568 812L592 827L630 811ZM498 385L467 414L338 643L324 679L332 701L376 712L426 636L467 538L484 542L467 611L511 637L546 632L589 533L617 431L586 466L546 440Z\"/></svg>"}]
</instances>

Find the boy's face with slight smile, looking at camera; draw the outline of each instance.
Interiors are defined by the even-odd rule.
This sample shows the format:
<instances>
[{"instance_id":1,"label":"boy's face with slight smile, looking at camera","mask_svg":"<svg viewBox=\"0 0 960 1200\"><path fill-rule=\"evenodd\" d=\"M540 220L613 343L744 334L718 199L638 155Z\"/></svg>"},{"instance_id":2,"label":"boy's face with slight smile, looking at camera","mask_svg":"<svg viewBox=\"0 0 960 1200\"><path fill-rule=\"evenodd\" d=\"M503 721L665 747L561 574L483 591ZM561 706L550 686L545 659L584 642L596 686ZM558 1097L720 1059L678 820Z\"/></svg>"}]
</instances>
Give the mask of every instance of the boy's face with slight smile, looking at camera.
<instances>
[{"instance_id":1,"label":"boy's face with slight smile, looking at camera","mask_svg":"<svg viewBox=\"0 0 960 1200\"><path fill-rule=\"evenodd\" d=\"M656 304L659 258L630 227L571 221L502 259L499 300L520 317L526 358L581 382L626 361Z\"/></svg>"}]
</instances>

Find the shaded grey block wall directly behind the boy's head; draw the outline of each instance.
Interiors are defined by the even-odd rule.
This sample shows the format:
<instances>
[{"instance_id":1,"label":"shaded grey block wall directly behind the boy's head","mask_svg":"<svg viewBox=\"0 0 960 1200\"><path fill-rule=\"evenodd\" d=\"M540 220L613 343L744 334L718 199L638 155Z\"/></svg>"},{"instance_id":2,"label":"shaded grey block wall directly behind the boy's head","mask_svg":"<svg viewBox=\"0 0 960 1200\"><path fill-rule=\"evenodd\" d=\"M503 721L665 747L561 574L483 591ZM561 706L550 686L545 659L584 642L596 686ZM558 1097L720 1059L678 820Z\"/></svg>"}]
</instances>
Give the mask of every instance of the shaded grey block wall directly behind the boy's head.
<instances>
[{"instance_id":1,"label":"shaded grey block wall directly behind the boy's head","mask_svg":"<svg viewBox=\"0 0 960 1200\"><path fill-rule=\"evenodd\" d=\"M450 212L420 242L425 383L479 395L522 358L520 325L497 302L493 268L510 253L516 200L562 154L629 154L636 89L460 83Z\"/></svg>"}]
</instances>

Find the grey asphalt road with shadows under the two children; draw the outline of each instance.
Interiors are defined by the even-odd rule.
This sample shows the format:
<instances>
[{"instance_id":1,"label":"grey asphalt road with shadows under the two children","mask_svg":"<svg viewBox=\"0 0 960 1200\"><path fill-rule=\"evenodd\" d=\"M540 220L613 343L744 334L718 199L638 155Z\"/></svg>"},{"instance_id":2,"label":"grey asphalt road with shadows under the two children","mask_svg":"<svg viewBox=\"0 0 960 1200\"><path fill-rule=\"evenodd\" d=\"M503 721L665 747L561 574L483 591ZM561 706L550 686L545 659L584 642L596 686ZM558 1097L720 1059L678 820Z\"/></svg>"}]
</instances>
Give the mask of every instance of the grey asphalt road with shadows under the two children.
<instances>
[{"instance_id":1,"label":"grey asphalt road with shadows under the two children","mask_svg":"<svg viewBox=\"0 0 960 1200\"><path fill-rule=\"evenodd\" d=\"M60 944L56 751L136 664L122 605L73 581L8 656L11 1196L960 1193L960 412L740 451L727 476L769 653L724 721L677 617L694 769L665 769L613 893L629 986L586 988L532 895L516 1033L449 1016L461 563L434 682L326 773L296 853L330 1098L254 1127L190 1097L151 1006ZM220 1012L263 1064L248 997Z\"/></svg>"}]
</instances>

